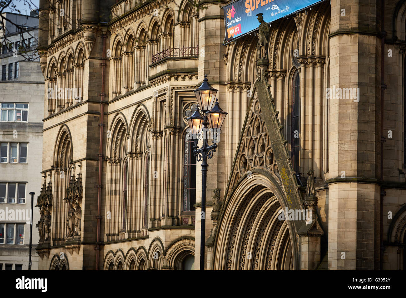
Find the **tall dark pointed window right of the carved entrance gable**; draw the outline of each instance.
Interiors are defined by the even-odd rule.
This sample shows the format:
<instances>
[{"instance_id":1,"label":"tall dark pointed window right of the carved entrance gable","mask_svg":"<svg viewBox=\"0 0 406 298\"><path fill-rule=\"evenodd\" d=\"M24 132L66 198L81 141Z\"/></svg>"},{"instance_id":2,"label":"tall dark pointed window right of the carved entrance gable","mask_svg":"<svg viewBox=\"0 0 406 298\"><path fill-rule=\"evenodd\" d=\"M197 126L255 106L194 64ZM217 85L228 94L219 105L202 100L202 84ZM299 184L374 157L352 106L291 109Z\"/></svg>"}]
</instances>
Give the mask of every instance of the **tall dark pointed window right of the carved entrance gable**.
<instances>
[{"instance_id":1,"label":"tall dark pointed window right of the carved entrance gable","mask_svg":"<svg viewBox=\"0 0 406 298\"><path fill-rule=\"evenodd\" d=\"M292 78L291 132L292 167L294 171L298 172L300 151L300 79L297 70Z\"/></svg>"}]
</instances>

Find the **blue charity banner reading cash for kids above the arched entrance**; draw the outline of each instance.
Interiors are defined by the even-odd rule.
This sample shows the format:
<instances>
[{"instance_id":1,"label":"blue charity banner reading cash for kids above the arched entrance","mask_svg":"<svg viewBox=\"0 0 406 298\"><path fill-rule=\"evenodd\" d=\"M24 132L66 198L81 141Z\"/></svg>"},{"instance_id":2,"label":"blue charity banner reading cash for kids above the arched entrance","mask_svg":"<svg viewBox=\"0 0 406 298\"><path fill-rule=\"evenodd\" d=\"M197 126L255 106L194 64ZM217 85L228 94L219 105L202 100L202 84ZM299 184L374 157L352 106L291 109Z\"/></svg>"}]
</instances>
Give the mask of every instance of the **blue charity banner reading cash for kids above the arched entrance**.
<instances>
[{"instance_id":1,"label":"blue charity banner reading cash for kids above the arched entrance","mask_svg":"<svg viewBox=\"0 0 406 298\"><path fill-rule=\"evenodd\" d=\"M270 23L311 6L320 0L239 0L223 7L226 41L242 36L258 28L257 14Z\"/></svg>"}]
</instances>

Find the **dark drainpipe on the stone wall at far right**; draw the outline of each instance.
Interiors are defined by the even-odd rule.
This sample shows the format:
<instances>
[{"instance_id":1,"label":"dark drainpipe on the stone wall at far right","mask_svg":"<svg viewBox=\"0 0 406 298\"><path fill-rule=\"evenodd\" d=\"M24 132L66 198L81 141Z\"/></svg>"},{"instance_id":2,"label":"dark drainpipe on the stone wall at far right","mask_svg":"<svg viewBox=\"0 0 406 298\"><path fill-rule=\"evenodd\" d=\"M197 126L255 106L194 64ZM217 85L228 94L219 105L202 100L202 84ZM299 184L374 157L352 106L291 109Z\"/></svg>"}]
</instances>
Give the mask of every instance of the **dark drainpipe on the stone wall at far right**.
<instances>
[{"instance_id":1,"label":"dark drainpipe on the stone wall at far right","mask_svg":"<svg viewBox=\"0 0 406 298\"><path fill-rule=\"evenodd\" d=\"M381 38L381 106L380 106L380 122L381 122L381 148L380 148L380 249L379 249L379 269L382 270L383 266L383 198L385 196L383 183L383 143L386 140L384 137L384 126L383 126L383 112L384 112L384 90L386 85L384 84L385 75L385 5L384 1L381 2L381 26L382 26L382 38Z\"/></svg>"}]
</instances>

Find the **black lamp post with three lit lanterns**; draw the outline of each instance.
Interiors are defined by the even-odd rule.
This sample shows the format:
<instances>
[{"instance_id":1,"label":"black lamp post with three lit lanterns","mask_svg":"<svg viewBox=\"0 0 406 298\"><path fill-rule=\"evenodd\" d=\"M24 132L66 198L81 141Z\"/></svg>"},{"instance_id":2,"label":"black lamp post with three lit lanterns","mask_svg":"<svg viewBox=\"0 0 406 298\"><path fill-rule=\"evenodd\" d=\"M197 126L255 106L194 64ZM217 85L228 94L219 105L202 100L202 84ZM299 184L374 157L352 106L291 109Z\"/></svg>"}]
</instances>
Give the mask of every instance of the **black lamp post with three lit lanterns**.
<instances>
[{"instance_id":1,"label":"black lamp post with three lit lanterns","mask_svg":"<svg viewBox=\"0 0 406 298\"><path fill-rule=\"evenodd\" d=\"M217 94L207 80L207 75L203 80L203 84L196 90L197 103L203 113L201 116L199 107L196 107L194 113L188 117L189 127L192 130L192 136L194 138L194 150L193 153L197 157L197 161L201 161L202 164L202 210L201 210L201 231L200 231L200 270L204 270L204 255L205 255L205 229L206 229L206 182L207 182L207 159L213 157L213 152L216 152L218 143L218 133L224 122L227 113L223 111L218 105L218 99L214 103L214 98ZM214 107L213 107L214 104ZM209 130L209 124L213 132L213 145L209 145L207 142L207 131ZM203 125L203 128L202 128ZM201 130L203 130L201 132ZM201 148L198 148L198 135L203 136L203 144Z\"/></svg>"}]
</instances>

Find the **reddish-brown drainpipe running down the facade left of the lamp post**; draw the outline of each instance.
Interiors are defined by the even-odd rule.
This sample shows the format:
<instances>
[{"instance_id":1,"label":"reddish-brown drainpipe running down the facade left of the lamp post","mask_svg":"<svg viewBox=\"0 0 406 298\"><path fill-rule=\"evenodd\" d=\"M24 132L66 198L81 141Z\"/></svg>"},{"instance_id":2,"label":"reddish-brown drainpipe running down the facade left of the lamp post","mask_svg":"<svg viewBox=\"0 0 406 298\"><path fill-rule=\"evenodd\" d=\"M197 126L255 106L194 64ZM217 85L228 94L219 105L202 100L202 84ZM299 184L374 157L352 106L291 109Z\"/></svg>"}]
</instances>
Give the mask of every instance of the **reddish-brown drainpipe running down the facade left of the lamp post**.
<instances>
[{"instance_id":1,"label":"reddish-brown drainpipe running down the facade left of the lamp post","mask_svg":"<svg viewBox=\"0 0 406 298\"><path fill-rule=\"evenodd\" d=\"M103 169L103 119L104 119L104 79L106 73L106 28L102 29L103 51L102 51L102 93L100 93L100 143L99 143L99 182L97 183L97 240L96 240L96 270L99 270L100 256L100 225L102 220L102 169Z\"/></svg>"}]
</instances>

